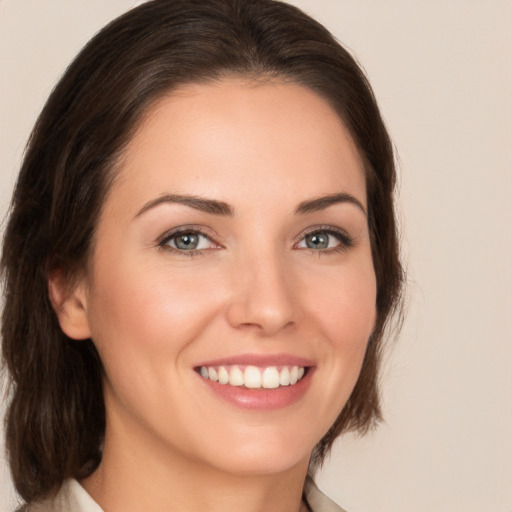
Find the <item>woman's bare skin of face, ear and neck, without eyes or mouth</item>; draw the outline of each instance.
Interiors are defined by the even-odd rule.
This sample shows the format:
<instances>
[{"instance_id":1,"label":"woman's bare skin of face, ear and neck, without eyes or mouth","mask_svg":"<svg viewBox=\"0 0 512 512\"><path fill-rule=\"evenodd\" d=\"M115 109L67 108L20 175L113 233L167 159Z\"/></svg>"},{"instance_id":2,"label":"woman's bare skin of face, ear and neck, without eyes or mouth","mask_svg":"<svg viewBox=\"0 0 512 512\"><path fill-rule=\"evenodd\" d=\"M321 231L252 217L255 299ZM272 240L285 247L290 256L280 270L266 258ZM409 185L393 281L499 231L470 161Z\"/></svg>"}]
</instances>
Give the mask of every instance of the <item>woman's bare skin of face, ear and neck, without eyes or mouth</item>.
<instances>
[{"instance_id":1,"label":"woman's bare skin of face, ear and neck, without eyes or mouth","mask_svg":"<svg viewBox=\"0 0 512 512\"><path fill-rule=\"evenodd\" d=\"M232 215L148 206L165 194L222 201ZM354 201L296 211L333 194ZM105 367L104 457L82 482L100 506L302 510L311 451L355 385L375 321L365 209L353 141L302 86L226 79L150 109L107 196L87 274L70 295L50 282L63 330L91 337ZM180 226L207 235L192 256L160 244ZM331 234L328 249L308 248L308 230L326 226L352 245ZM236 407L194 371L283 353L315 368L305 395L278 410Z\"/></svg>"}]
</instances>

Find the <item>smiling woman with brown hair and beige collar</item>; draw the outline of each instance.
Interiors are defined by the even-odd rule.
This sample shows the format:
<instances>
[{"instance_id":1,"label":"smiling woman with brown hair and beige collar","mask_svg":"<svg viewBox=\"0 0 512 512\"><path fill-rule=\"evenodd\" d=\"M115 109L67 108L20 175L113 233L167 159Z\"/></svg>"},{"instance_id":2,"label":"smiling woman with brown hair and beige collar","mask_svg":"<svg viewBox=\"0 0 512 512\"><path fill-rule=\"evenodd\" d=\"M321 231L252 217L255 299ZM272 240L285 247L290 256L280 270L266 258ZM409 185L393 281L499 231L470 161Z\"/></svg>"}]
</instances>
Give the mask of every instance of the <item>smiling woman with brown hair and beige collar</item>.
<instances>
[{"instance_id":1,"label":"smiling woman with brown hair and beige collar","mask_svg":"<svg viewBox=\"0 0 512 512\"><path fill-rule=\"evenodd\" d=\"M28 510L340 510L311 476L380 418L402 271L352 57L271 0L148 2L34 128L2 271Z\"/></svg>"}]
</instances>

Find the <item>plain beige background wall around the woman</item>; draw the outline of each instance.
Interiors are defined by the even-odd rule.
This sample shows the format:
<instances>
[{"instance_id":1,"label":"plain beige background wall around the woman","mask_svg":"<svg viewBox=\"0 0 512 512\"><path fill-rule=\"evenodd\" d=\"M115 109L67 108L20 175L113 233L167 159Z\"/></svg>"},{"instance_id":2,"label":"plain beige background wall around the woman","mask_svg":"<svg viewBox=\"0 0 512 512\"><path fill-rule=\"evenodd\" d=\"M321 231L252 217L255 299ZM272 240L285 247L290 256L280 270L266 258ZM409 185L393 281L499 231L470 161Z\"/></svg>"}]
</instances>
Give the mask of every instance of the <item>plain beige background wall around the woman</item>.
<instances>
[{"instance_id":1,"label":"plain beige background wall around the woman","mask_svg":"<svg viewBox=\"0 0 512 512\"><path fill-rule=\"evenodd\" d=\"M133 0L0 0L0 214L29 130ZM512 511L512 2L294 0L363 63L398 148L409 316L386 423L334 449L351 512ZM0 462L0 510L14 493Z\"/></svg>"}]
</instances>

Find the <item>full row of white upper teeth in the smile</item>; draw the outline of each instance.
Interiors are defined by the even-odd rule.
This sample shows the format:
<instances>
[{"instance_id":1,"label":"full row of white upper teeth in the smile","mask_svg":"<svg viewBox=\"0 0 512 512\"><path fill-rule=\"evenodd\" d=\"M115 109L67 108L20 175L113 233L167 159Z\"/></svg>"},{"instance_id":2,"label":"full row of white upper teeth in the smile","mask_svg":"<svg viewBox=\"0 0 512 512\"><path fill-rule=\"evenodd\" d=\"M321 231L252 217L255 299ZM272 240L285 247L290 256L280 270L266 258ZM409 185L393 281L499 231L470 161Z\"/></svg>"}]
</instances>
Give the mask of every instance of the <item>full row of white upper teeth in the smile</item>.
<instances>
[{"instance_id":1,"label":"full row of white upper teeth in the smile","mask_svg":"<svg viewBox=\"0 0 512 512\"><path fill-rule=\"evenodd\" d=\"M305 368L302 366L276 366L259 368L246 366L242 371L238 366L201 366L199 373L205 379L229 384L230 386L245 386L249 389L276 389L279 386L293 386L304 377Z\"/></svg>"}]
</instances>

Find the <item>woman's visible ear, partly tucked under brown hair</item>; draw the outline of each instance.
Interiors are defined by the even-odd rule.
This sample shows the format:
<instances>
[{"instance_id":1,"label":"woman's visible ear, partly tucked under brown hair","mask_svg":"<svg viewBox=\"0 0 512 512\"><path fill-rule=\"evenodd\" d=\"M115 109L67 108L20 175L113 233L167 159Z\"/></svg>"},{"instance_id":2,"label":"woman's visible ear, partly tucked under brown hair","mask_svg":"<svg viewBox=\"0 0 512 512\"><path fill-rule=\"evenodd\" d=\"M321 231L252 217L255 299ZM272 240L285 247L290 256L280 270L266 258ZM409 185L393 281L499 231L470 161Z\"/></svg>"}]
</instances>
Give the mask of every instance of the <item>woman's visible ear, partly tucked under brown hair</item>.
<instances>
[{"instance_id":1,"label":"woman's visible ear, partly tucked under brown hair","mask_svg":"<svg viewBox=\"0 0 512 512\"><path fill-rule=\"evenodd\" d=\"M48 294L64 334L75 340L90 338L85 278L70 288L64 272L54 270L48 278Z\"/></svg>"}]
</instances>

